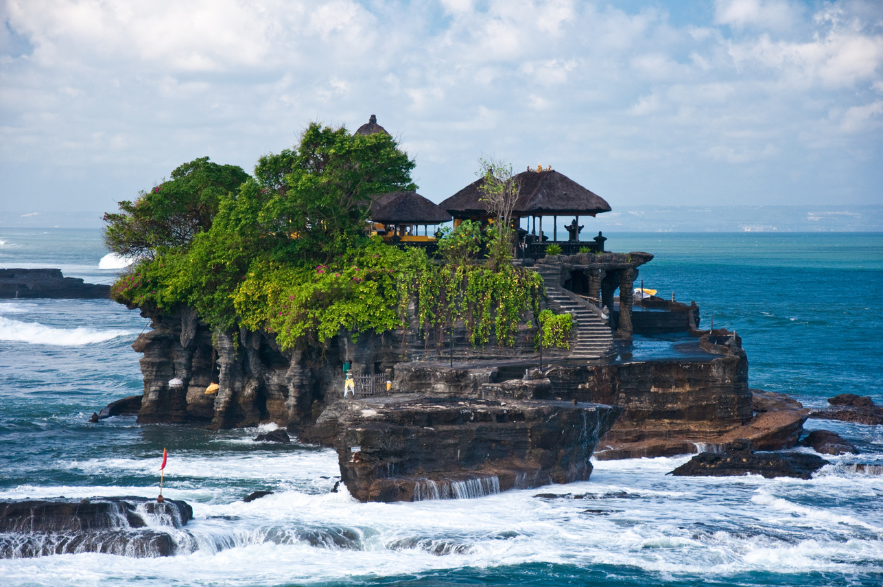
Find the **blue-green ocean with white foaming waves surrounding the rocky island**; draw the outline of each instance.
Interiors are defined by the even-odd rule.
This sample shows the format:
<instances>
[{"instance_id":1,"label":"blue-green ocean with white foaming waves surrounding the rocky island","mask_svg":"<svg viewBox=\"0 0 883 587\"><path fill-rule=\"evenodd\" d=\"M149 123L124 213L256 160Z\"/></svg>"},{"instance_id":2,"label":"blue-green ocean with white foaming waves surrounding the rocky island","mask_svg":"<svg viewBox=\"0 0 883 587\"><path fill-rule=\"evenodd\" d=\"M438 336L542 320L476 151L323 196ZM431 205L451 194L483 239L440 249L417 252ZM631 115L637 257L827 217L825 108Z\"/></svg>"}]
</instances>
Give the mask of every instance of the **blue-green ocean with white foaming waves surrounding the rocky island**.
<instances>
[{"instance_id":1,"label":"blue-green ocean with white foaming waves surrounding the rocky island","mask_svg":"<svg viewBox=\"0 0 883 587\"><path fill-rule=\"evenodd\" d=\"M807 407L883 402L883 233L607 233L654 260L638 281L743 339L750 385ZM99 230L0 228L0 268L110 283ZM116 263L118 264L118 263ZM102 268L106 267L106 268ZM636 283L638 286L639 283ZM674 477L689 456L594 461L591 480L478 499L361 504L330 492L336 454L206 431L87 423L140 393L130 345L147 320L113 301L0 301L0 501L158 493L195 518L186 553L0 560L3 585L883 584L883 426L809 420L861 454L815 478ZM636 339L636 346L658 341ZM809 449L800 449L809 450ZM274 492L245 503L256 490ZM555 493L558 499L536 497ZM584 496L583 499L573 499Z\"/></svg>"}]
</instances>

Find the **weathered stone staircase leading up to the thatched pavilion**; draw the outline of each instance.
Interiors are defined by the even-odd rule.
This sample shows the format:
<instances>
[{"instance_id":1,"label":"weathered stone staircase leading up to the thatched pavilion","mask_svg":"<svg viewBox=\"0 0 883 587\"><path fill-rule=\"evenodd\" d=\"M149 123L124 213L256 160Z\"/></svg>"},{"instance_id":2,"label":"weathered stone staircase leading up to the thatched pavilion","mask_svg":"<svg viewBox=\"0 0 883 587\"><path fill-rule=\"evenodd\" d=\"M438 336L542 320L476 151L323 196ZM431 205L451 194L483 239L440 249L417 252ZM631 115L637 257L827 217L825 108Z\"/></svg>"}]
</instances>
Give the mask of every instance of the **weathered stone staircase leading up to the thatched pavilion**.
<instances>
[{"instance_id":1,"label":"weathered stone staircase leading up to the thatched pavilion","mask_svg":"<svg viewBox=\"0 0 883 587\"><path fill-rule=\"evenodd\" d=\"M540 273L546 282L548 304L559 312L568 312L577 320L577 342L570 348L570 356L580 359L598 359L615 354L613 334L608 324L586 309L585 304L574 300L561 286L561 265L538 263L533 271Z\"/></svg>"}]
</instances>

